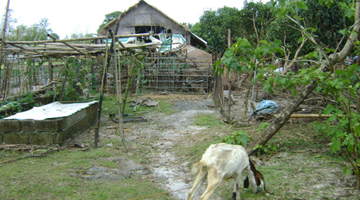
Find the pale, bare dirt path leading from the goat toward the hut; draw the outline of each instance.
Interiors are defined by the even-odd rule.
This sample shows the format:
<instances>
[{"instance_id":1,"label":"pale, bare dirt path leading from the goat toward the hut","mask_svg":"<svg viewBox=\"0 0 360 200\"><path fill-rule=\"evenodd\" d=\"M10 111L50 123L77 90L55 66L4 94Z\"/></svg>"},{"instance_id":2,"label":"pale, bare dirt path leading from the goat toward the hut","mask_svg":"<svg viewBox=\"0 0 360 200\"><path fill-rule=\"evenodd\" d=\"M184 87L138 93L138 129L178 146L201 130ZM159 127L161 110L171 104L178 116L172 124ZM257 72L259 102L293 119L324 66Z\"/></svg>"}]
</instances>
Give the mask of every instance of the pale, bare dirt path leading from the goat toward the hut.
<instances>
[{"instance_id":1,"label":"pale, bare dirt path leading from the goat toward the hut","mask_svg":"<svg viewBox=\"0 0 360 200\"><path fill-rule=\"evenodd\" d=\"M211 101L190 101L175 103L176 112L170 116L145 116L151 118L151 123L146 127L139 127L136 131L138 134L147 135L155 139L152 149L156 149L149 154L153 176L156 182L161 184L167 191L176 191L172 195L174 199L186 199L188 189L192 186L189 182L190 168L192 163L184 162L178 165L178 160L173 153L172 148L180 145L184 137L194 136L206 127L192 125L194 117L198 114L214 113L207 107ZM150 114L151 115L151 114ZM181 144L183 145L183 144Z\"/></svg>"}]
</instances>

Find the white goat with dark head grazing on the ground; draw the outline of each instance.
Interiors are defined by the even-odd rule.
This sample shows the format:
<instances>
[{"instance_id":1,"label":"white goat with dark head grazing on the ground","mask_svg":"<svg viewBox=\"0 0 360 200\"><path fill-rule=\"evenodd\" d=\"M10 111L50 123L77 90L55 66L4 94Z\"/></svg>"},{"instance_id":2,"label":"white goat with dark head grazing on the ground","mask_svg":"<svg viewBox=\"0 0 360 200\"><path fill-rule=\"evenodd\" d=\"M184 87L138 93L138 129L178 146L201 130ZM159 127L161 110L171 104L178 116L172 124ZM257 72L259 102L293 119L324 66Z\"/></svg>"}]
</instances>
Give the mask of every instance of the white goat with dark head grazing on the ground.
<instances>
[{"instance_id":1,"label":"white goat with dark head grazing on the ground","mask_svg":"<svg viewBox=\"0 0 360 200\"><path fill-rule=\"evenodd\" d=\"M207 200L221 181L233 178L235 180L233 199L240 200L239 185L242 182L241 173L247 174L244 186L251 185L253 192L258 192L259 186L265 190L265 183L262 174L257 171L247 155L244 147L225 143L212 144L205 151L201 160L194 164L192 173L199 174L195 179L187 200L192 200L196 191L204 183L207 176L208 187L201 195L201 200Z\"/></svg>"}]
</instances>

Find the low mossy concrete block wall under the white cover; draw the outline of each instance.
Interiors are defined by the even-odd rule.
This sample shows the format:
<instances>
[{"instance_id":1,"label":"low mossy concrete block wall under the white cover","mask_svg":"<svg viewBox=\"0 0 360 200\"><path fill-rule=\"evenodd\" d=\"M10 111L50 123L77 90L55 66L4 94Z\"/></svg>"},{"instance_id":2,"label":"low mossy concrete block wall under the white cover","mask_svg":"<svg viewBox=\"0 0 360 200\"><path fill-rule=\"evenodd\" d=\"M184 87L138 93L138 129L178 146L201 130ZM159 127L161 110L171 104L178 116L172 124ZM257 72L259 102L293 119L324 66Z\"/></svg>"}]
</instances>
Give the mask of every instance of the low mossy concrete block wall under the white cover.
<instances>
[{"instance_id":1,"label":"low mossy concrete block wall under the white cover","mask_svg":"<svg viewBox=\"0 0 360 200\"><path fill-rule=\"evenodd\" d=\"M81 131L95 125L98 103L62 118L0 120L0 144L64 145Z\"/></svg>"}]
</instances>

